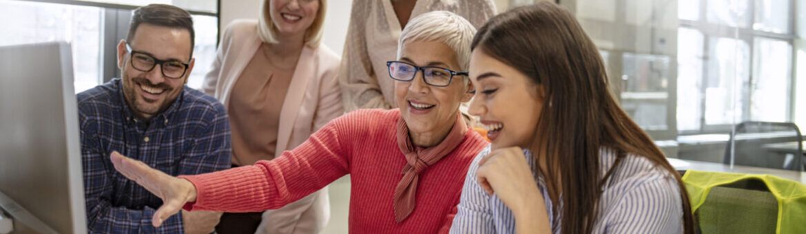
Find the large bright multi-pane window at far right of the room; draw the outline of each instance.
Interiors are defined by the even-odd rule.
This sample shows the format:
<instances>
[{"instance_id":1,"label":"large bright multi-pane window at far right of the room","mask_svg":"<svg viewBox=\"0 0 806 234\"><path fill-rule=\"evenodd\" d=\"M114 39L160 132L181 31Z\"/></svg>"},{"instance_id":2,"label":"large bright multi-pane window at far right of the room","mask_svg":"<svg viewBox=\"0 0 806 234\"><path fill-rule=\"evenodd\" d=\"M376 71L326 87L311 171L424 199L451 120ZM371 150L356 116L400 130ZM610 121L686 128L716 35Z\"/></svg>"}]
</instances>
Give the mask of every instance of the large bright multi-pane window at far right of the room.
<instances>
[{"instance_id":1,"label":"large bright multi-pane window at far right of the room","mask_svg":"<svg viewBox=\"0 0 806 234\"><path fill-rule=\"evenodd\" d=\"M678 129L791 121L791 0L681 0ZM696 90L696 92L692 92Z\"/></svg>"}]
</instances>

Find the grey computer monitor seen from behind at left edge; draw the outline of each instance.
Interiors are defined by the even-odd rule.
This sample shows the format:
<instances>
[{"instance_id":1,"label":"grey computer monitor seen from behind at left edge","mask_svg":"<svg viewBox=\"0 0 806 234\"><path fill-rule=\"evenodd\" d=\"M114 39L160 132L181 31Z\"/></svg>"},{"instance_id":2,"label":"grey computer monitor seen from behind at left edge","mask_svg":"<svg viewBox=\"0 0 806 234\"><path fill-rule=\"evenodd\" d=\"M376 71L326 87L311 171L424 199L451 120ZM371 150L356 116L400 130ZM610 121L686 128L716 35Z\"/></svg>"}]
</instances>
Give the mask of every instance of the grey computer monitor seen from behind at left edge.
<instances>
[{"instance_id":1,"label":"grey computer monitor seen from behind at left edge","mask_svg":"<svg viewBox=\"0 0 806 234\"><path fill-rule=\"evenodd\" d=\"M0 47L0 208L15 233L86 233L68 43Z\"/></svg>"}]
</instances>

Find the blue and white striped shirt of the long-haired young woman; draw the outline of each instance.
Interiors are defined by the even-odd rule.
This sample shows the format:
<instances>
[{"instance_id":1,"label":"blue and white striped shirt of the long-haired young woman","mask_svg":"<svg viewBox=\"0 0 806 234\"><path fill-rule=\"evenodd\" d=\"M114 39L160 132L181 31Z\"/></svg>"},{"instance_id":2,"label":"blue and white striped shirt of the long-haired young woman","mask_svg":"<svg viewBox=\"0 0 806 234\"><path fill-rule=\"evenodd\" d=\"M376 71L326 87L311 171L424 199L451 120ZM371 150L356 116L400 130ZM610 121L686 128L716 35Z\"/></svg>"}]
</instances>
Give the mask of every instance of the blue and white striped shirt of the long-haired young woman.
<instances>
[{"instance_id":1,"label":"blue and white striped shirt of the long-haired young woman","mask_svg":"<svg viewBox=\"0 0 806 234\"><path fill-rule=\"evenodd\" d=\"M451 233L515 233L512 211L496 195L488 195L476 179L479 161L489 152L488 146L467 170ZM604 177L617 154L609 149L600 152ZM528 150L525 153L538 189L546 198L551 230L561 233L562 216L552 213L553 202L544 180L537 174L532 154ZM593 233L683 233L683 207L675 177L648 159L633 154L627 154L620 163L605 184Z\"/></svg>"}]
</instances>

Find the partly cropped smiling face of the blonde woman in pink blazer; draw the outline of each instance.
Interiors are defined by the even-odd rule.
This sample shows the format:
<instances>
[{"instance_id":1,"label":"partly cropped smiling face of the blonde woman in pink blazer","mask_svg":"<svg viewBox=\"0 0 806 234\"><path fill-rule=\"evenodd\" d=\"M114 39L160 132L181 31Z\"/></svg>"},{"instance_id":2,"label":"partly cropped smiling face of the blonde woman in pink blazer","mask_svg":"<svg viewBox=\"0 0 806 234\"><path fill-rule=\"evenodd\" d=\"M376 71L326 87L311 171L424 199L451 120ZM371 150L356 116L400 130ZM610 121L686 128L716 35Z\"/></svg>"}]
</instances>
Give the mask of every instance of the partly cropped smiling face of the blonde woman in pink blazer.
<instances>
[{"instance_id":1,"label":"partly cropped smiling face of the blonde woman in pink blazer","mask_svg":"<svg viewBox=\"0 0 806 234\"><path fill-rule=\"evenodd\" d=\"M319 0L271 1L269 17L280 35L305 35L319 10Z\"/></svg>"}]
</instances>

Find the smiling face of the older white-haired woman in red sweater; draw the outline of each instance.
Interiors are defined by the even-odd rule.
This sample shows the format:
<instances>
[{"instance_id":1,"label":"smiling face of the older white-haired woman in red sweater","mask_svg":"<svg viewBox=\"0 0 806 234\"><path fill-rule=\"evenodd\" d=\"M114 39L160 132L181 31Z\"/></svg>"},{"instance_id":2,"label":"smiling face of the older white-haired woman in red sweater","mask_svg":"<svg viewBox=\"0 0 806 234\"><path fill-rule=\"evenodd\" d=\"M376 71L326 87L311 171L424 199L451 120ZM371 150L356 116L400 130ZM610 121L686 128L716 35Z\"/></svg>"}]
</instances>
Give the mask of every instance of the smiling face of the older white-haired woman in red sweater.
<instances>
[{"instance_id":1,"label":"smiling face of the older white-haired woman in red sweater","mask_svg":"<svg viewBox=\"0 0 806 234\"><path fill-rule=\"evenodd\" d=\"M406 41L401 47L400 60L420 67L461 71L455 52L444 43ZM447 87L426 84L422 72L411 81L395 80L395 101L415 145L438 144L451 130L459 114L459 104L472 97L467 92L465 79L465 76L454 76ZM418 139L421 136L423 139Z\"/></svg>"}]
</instances>

